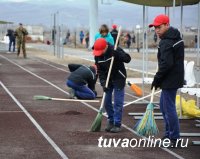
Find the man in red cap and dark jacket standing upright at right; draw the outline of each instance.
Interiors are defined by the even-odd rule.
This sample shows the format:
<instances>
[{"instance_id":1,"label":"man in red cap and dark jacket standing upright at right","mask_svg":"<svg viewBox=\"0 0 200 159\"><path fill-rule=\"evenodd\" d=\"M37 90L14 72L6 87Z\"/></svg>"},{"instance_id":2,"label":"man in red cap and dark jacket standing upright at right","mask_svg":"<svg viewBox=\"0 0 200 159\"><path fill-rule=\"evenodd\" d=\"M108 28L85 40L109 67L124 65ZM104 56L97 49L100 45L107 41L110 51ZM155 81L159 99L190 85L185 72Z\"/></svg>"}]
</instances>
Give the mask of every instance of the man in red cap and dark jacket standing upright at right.
<instances>
[{"instance_id":1,"label":"man in red cap and dark jacket standing upright at right","mask_svg":"<svg viewBox=\"0 0 200 159\"><path fill-rule=\"evenodd\" d=\"M175 146L180 138L179 120L176 113L175 98L177 89L184 84L184 43L180 32L169 26L166 15L158 15L153 24L155 32L161 39L158 47L158 71L154 76L152 88L162 89L160 110L165 122L164 138Z\"/></svg>"}]
</instances>

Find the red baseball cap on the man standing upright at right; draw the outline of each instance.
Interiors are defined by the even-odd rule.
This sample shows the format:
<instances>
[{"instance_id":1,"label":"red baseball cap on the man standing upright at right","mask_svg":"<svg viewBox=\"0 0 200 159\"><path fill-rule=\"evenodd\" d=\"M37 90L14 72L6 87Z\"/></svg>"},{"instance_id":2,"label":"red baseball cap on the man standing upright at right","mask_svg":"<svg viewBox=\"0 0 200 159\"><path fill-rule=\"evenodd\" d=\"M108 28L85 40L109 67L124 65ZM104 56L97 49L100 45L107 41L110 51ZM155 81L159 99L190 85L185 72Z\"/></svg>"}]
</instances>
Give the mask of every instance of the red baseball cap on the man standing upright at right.
<instances>
[{"instance_id":1,"label":"red baseball cap on the man standing upright at right","mask_svg":"<svg viewBox=\"0 0 200 159\"><path fill-rule=\"evenodd\" d=\"M160 26L161 24L168 24L168 23L169 23L169 17L164 14L160 14L157 17L155 17L152 24L149 24L149 28L151 28L153 26L154 27Z\"/></svg>"}]
</instances>

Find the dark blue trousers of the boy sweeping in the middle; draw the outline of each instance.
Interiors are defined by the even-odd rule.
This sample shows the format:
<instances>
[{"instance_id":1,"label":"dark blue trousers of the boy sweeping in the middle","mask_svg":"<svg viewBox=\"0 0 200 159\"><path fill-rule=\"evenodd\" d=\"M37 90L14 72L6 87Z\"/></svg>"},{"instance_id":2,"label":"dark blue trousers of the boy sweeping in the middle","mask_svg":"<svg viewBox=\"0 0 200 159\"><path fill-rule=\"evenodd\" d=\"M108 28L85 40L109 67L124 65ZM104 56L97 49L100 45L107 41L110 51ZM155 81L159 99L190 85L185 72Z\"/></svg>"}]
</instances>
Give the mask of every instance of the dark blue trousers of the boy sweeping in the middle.
<instances>
[{"instance_id":1,"label":"dark blue trousers of the boy sweeping in the middle","mask_svg":"<svg viewBox=\"0 0 200 159\"><path fill-rule=\"evenodd\" d=\"M114 105L112 104L113 90L114 90ZM115 86L110 87L106 91L104 107L108 114L108 122L118 127L121 126L123 104L124 104L124 88L117 89L115 88Z\"/></svg>"}]
</instances>

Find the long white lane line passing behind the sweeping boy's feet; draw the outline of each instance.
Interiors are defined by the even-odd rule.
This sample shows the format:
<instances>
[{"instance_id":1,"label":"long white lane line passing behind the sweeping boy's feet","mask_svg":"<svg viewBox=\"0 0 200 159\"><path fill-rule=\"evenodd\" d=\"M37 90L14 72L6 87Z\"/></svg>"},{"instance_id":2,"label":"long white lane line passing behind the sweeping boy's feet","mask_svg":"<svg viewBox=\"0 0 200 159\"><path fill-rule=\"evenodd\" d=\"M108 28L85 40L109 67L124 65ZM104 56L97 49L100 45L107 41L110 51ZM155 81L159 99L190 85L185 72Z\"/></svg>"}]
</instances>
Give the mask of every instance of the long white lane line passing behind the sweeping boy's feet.
<instances>
[{"instance_id":1,"label":"long white lane line passing behind the sweeping boy's feet","mask_svg":"<svg viewBox=\"0 0 200 159\"><path fill-rule=\"evenodd\" d=\"M0 56L2 56L2 55L0 55ZM35 73L33 73L33 72L31 72L31 71L29 71L29 70L23 68L22 66L20 66L20 65L18 65L17 63L15 63L15 62L9 60L8 58L6 58L6 57L4 57L4 56L2 56L2 57L3 57L4 59L7 59L9 62L13 63L14 65L20 67L21 69L25 70L26 72L29 72L29 73L32 74L33 76L35 76L35 77L37 77L37 78L43 80L44 82L46 82L46 83L52 85L53 87L57 88L57 89L60 90L61 92L65 93L65 94L69 94L68 92L64 91L64 90L61 89L60 87L54 85L53 83L47 81L46 79L44 79L44 78L42 78L42 77L36 75ZM81 103L83 103L84 105L86 105L87 107L93 109L93 110L96 111L96 112L99 111L98 109L96 109L95 107L93 107L92 105L90 105L90 104L88 104L88 103L85 103L85 102L81 102ZM105 115L104 115L104 116L105 116ZM130 127L124 125L124 124L123 124L122 126L123 126L124 128L126 128L127 130L131 131L131 132L132 132L133 134L135 134L136 136L140 136L140 135L138 135L138 133L137 133L136 131L132 130L132 128L130 128ZM146 139L146 137L144 137L144 136L140 136L140 137ZM178 158L178 159L184 159L182 156L176 154L175 152L173 152L173 151L171 151L171 150L169 150L169 149L167 149L167 148L161 148L161 149L163 149L164 151L168 152L169 154L171 154L172 156L174 156L174 157L176 157L176 158Z\"/></svg>"}]
</instances>

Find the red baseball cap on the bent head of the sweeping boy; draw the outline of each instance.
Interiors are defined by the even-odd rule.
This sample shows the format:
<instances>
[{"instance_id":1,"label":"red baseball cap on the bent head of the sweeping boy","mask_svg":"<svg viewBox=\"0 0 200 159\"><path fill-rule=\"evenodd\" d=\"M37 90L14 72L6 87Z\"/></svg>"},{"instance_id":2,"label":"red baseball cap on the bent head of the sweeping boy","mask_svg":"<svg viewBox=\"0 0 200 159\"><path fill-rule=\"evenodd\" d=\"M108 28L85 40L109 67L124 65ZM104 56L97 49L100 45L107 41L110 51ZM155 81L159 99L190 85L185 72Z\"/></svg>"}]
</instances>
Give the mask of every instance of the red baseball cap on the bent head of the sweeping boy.
<instances>
[{"instance_id":1,"label":"red baseball cap on the bent head of the sweeping boy","mask_svg":"<svg viewBox=\"0 0 200 159\"><path fill-rule=\"evenodd\" d=\"M107 46L107 42L104 38L97 39L94 43L93 55L101 56L106 46Z\"/></svg>"}]
</instances>

